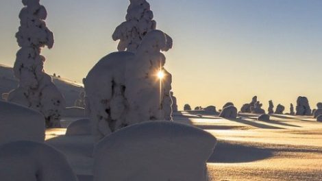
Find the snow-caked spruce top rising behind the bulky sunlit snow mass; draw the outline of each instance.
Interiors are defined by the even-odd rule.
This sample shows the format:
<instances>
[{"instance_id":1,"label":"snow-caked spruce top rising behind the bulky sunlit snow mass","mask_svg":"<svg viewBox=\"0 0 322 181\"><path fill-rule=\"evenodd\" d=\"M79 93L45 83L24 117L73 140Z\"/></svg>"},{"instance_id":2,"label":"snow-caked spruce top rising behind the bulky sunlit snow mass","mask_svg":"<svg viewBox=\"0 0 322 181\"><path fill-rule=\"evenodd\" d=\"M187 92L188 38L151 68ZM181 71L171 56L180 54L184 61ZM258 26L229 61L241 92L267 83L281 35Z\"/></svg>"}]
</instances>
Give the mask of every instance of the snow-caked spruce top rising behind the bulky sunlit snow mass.
<instances>
[{"instance_id":1,"label":"snow-caked spruce top rising behind the bulky sunlit snow mass","mask_svg":"<svg viewBox=\"0 0 322 181\"><path fill-rule=\"evenodd\" d=\"M127 8L126 21L116 27L112 38L120 40L117 49L136 53L143 37L156 29L153 12L145 0L130 0Z\"/></svg>"}]
</instances>

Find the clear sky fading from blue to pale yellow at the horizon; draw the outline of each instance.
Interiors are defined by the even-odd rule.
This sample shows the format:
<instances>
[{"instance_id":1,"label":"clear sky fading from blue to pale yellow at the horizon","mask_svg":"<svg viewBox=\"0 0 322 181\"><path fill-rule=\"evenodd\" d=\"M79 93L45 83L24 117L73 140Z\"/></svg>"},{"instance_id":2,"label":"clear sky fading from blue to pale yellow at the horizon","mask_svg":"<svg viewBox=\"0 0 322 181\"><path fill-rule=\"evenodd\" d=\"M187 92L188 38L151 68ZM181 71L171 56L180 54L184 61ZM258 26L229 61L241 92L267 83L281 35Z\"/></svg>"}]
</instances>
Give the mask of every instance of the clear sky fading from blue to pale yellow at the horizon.
<instances>
[{"instance_id":1,"label":"clear sky fading from blue to pale yellow at the horizon","mask_svg":"<svg viewBox=\"0 0 322 181\"><path fill-rule=\"evenodd\" d=\"M240 108L258 96L286 106L299 95L311 107L322 101L322 1L148 0L157 29L173 38L166 69L173 75L179 110L184 104L227 101ZM44 49L45 70L82 82L116 51L112 33L125 21L128 0L41 0L53 49ZM0 64L14 64L18 0L0 0Z\"/></svg>"}]
</instances>

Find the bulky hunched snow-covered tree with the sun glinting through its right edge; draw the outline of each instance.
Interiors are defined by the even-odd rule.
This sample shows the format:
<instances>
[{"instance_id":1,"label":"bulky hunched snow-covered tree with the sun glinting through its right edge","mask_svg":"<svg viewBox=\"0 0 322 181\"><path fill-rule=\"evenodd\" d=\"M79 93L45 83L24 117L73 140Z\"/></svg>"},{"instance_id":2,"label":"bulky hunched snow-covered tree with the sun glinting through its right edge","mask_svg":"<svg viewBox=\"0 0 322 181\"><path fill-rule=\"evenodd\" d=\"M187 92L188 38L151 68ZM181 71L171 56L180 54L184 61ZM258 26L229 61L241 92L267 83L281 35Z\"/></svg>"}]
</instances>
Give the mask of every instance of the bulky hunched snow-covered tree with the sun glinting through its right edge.
<instances>
[{"instance_id":1,"label":"bulky hunched snow-covered tree with the sun glinting through its right edge","mask_svg":"<svg viewBox=\"0 0 322 181\"><path fill-rule=\"evenodd\" d=\"M110 53L84 80L93 134L103 138L120 128L151 120L171 120L171 74L164 69L172 39L149 32L136 53ZM161 80L158 71L164 73ZM160 93L161 90L161 93Z\"/></svg>"}]
</instances>

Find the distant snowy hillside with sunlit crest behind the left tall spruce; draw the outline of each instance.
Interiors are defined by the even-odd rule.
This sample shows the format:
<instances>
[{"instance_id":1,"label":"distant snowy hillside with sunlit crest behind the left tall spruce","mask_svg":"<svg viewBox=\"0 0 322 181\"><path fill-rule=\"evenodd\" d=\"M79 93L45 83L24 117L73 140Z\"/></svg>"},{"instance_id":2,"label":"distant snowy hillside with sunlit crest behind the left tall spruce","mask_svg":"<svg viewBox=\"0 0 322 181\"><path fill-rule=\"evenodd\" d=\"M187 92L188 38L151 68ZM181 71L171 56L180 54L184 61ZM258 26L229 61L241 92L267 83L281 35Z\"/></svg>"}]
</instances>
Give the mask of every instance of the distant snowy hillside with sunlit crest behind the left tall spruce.
<instances>
[{"instance_id":1,"label":"distant snowy hillside with sunlit crest behind the left tall spruce","mask_svg":"<svg viewBox=\"0 0 322 181\"><path fill-rule=\"evenodd\" d=\"M66 99L66 106L74 106L74 102L79 97L79 93L84 91L82 84L60 77L52 77L53 83L58 87ZM0 99L3 93L8 93L18 86L18 80L14 77L12 67L0 64Z\"/></svg>"}]
</instances>

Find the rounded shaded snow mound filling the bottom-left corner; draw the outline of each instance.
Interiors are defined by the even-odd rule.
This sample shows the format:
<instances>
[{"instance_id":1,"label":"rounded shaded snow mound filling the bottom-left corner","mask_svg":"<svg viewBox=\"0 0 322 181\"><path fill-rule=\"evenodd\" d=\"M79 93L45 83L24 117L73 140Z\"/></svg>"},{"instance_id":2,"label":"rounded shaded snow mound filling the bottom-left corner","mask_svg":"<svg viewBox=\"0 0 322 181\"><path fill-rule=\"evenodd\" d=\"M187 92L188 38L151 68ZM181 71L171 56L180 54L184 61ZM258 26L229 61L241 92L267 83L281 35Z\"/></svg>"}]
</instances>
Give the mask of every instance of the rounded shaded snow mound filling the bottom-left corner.
<instances>
[{"instance_id":1,"label":"rounded shaded snow mound filling the bottom-left corner","mask_svg":"<svg viewBox=\"0 0 322 181\"><path fill-rule=\"evenodd\" d=\"M43 143L2 145L0 160L1 181L77 181L65 156Z\"/></svg>"}]
</instances>

